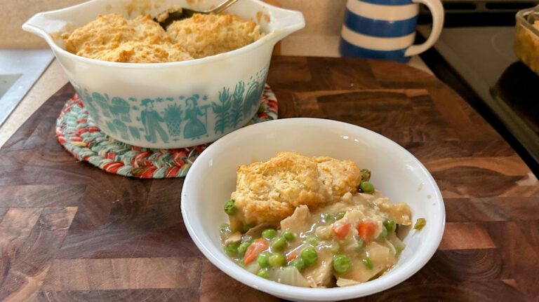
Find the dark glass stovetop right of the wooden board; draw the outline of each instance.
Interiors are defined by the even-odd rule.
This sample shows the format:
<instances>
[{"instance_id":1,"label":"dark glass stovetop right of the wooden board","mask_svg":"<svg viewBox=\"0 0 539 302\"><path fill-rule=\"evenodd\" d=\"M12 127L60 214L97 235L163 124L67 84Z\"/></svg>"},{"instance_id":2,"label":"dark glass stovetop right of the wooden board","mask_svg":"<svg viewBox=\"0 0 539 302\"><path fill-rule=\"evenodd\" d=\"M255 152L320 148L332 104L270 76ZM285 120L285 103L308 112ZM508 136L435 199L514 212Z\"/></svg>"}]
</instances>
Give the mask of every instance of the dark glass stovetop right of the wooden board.
<instances>
[{"instance_id":1,"label":"dark glass stovetop right of the wooden board","mask_svg":"<svg viewBox=\"0 0 539 302\"><path fill-rule=\"evenodd\" d=\"M425 25L418 27L422 36L429 31ZM539 102L535 94L539 90L539 76L518 62L513 43L514 26L448 27L434 50L514 137L519 145L515 149L527 153L520 155L528 159L526 163L538 174ZM429 64L429 60L425 62ZM439 75L442 81L443 76ZM511 139L507 138L510 142Z\"/></svg>"}]
</instances>

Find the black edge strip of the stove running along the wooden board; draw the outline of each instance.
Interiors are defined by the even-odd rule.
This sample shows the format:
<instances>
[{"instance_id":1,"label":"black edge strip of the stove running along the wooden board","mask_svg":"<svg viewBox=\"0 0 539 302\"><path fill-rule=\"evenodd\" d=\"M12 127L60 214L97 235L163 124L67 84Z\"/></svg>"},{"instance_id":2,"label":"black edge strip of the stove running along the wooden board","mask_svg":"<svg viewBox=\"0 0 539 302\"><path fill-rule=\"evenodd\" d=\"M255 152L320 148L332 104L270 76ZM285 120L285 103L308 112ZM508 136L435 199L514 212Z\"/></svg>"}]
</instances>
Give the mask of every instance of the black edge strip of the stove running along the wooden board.
<instances>
[{"instance_id":1,"label":"black edge strip of the stove running along the wooden board","mask_svg":"<svg viewBox=\"0 0 539 302\"><path fill-rule=\"evenodd\" d=\"M415 39L416 43L423 43L425 41L420 34L417 34ZM512 146L522 160L524 160L524 163L528 165L531 172L535 174L535 177L538 177L539 162L535 160L518 139L507 130L500 118L494 114L481 97L467 85L463 78L458 76L458 73L446 62L446 60L444 60L444 57L442 57L434 48L425 51L420 57L430 70L432 70L434 75L463 97L463 99L465 99L465 101L470 104L470 106L472 106L472 108L476 110L508 144L510 144L510 146Z\"/></svg>"}]
</instances>

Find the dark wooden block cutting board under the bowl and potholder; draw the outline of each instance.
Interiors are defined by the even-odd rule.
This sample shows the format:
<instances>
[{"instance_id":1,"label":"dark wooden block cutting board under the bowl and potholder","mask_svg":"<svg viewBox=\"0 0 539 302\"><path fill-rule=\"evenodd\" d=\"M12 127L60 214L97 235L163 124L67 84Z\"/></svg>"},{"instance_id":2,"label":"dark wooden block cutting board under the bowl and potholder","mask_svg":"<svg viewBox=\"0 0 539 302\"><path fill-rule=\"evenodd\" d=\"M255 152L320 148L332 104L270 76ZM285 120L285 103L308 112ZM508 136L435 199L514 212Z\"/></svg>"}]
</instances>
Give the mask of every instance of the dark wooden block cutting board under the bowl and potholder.
<instances>
[{"instance_id":1,"label":"dark wooden block cutting board under the bowl and potholder","mask_svg":"<svg viewBox=\"0 0 539 302\"><path fill-rule=\"evenodd\" d=\"M331 118L390 137L444 195L444 239L405 282L359 301L538 301L539 184L437 78L392 62L274 57L279 118ZM55 93L0 149L0 300L278 301L215 268L182 223L182 179L140 180L74 160Z\"/></svg>"}]
</instances>

